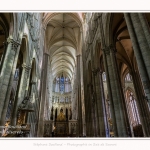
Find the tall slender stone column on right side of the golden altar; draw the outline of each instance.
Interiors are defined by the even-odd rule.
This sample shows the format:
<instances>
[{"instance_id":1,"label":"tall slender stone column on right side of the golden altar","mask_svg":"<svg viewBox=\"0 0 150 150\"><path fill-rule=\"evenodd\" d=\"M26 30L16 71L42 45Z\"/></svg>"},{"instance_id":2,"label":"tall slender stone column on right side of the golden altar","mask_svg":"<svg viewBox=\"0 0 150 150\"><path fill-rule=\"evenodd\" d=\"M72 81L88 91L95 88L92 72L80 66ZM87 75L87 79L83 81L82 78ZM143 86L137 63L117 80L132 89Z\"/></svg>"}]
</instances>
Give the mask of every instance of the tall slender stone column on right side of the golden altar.
<instances>
[{"instance_id":1,"label":"tall slender stone column on right side of the golden altar","mask_svg":"<svg viewBox=\"0 0 150 150\"><path fill-rule=\"evenodd\" d=\"M83 136L82 123L82 99L81 99L81 55L77 55L77 100L78 100L78 133L79 137Z\"/></svg>"}]
</instances>

